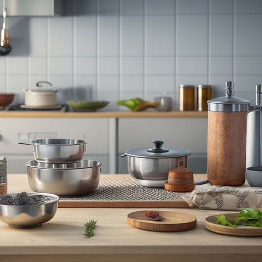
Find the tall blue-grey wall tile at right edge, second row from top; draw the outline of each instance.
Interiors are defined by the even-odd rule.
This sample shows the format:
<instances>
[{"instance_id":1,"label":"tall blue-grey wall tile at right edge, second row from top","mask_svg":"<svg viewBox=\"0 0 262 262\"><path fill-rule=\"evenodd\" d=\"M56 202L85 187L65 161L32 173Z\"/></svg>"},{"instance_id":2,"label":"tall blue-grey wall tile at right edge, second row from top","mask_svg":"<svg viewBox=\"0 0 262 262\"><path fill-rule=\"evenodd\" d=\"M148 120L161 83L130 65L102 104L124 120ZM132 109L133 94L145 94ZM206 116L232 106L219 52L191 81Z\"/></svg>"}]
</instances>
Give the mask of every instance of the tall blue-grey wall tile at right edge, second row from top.
<instances>
[{"instance_id":1,"label":"tall blue-grey wall tile at right edge, second row from top","mask_svg":"<svg viewBox=\"0 0 262 262\"><path fill-rule=\"evenodd\" d=\"M240 15L235 18L235 55L262 56L262 14Z\"/></svg>"}]
</instances>

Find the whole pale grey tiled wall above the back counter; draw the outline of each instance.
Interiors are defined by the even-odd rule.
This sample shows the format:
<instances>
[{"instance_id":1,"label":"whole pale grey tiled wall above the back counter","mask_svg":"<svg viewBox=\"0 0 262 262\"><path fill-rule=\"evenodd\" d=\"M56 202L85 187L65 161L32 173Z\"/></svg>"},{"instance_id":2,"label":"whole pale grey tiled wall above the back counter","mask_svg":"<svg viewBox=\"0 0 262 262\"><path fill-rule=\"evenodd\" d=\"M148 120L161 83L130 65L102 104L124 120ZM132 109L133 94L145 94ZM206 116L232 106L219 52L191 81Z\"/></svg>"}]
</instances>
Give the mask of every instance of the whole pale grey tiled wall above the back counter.
<instances>
[{"instance_id":1,"label":"whole pale grey tiled wall above the back counter","mask_svg":"<svg viewBox=\"0 0 262 262\"><path fill-rule=\"evenodd\" d=\"M210 84L218 97L233 81L236 94L252 98L262 83L261 0L64 5L61 17L7 17L12 52L0 57L0 90L17 92L15 103L41 80L110 100L103 110L117 110L120 97L152 100L164 91L177 110L179 84Z\"/></svg>"}]
</instances>

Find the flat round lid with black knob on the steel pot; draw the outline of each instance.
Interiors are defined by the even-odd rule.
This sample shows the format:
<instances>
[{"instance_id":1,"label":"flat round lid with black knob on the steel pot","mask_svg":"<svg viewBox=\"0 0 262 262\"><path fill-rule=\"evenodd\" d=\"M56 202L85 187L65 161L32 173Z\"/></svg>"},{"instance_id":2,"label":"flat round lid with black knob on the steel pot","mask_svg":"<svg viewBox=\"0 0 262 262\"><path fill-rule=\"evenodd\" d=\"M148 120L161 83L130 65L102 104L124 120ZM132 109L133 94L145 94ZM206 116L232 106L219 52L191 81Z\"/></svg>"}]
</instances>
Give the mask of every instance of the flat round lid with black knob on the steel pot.
<instances>
[{"instance_id":1,"label":"flat round lid with black knob on the steel pot","mask_svg":"<svg viewBox=\"0 0 262 262\"><path fill-rule=\"evenodd\" d=\"M161 140L152 141L153 147L133 148L125 151L125 155L143 158L173 158L189 156L190 151L177 148L165 148Z\"/></svg>"}]
</instances>

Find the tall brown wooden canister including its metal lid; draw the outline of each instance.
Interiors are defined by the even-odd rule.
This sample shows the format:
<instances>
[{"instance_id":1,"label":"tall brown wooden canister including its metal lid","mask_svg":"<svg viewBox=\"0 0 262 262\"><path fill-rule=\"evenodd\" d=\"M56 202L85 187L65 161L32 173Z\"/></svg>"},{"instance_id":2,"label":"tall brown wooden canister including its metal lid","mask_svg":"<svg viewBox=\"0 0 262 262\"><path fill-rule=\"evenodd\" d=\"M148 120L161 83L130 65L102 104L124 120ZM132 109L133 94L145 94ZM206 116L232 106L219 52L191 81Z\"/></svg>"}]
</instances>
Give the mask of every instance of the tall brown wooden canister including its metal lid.
<instances>
[{"instance_id":1,"label":"tall brown wooden canister including its metal lid","mask_svg":"<svg viewBox=\"0 0 262 262\"><path fill-rule=\"evenodd\" d=\"M233 96L226 82L226 96L208 103L207 179L212 185L240 186L245 182L247 111L250 101Z\"/></svg>"}]
</instances>

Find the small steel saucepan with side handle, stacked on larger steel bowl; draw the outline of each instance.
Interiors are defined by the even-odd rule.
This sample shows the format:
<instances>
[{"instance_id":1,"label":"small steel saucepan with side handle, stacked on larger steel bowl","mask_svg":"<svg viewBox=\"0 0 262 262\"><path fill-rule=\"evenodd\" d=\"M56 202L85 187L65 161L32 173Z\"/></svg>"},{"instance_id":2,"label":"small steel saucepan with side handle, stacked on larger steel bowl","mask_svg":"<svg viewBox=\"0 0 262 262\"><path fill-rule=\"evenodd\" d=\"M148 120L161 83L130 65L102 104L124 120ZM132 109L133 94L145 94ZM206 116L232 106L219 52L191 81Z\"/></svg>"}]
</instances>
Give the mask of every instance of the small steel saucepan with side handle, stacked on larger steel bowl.
<instances>
[{"instance_id":1,"label":"small steel saucepan with side handle, stacked on larger steel bowl","mask_svg":"<svg viewBox=\"0 0 262 262\"><path fill-rule=\"evenodd\" d=\"M43 163L75 163L83 159L85 140L80 139L36 139L32 142L18 142L32 145L34 159Z\"/></svg>"}]
</instances>

